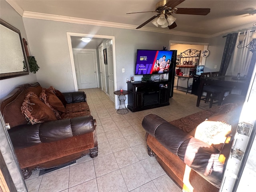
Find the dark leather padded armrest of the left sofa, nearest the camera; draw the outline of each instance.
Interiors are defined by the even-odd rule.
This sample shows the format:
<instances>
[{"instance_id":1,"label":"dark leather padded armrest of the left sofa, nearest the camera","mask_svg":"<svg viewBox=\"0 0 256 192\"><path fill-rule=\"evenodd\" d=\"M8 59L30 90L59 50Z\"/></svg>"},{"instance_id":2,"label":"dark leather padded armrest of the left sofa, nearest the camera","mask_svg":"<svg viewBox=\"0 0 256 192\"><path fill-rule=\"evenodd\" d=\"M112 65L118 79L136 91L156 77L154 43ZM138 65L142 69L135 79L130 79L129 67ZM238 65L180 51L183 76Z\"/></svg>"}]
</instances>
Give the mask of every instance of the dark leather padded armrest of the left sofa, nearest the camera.
<instances>
[{"instance_id":1,"label":"dark leather padded armrest of the left sofa, nearest the camera","mask_svg":"<svg viewBox=\"0 0 256 192\"><path fill-rule=\"evenodd\" d=\"M25 148L40 143L54 142L93 132L96 120L81 116L37 124L19 125L8 130L14 148Z\"/></svg>"}]
</instances>

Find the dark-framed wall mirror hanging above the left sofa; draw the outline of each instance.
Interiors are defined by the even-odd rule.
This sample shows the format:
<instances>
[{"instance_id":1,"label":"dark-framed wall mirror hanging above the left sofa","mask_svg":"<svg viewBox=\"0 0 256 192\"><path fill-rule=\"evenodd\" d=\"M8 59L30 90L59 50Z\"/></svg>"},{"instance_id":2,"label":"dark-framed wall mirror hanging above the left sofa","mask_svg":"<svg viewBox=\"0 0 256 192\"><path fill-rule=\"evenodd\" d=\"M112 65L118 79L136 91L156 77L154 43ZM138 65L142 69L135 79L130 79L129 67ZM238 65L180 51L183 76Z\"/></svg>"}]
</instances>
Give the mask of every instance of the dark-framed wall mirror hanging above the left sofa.
<instances>
[{"instance_id":1,"label":"dark-framed wall mirror hanging above the left sofa","mask_svg":"<svg viewBox=\"0 0 256 192\"><path fill-rule=\"evenodd\" d=\"M0 80L28 75L20 30L0 19Z\"/></svg>"}]
</instances>

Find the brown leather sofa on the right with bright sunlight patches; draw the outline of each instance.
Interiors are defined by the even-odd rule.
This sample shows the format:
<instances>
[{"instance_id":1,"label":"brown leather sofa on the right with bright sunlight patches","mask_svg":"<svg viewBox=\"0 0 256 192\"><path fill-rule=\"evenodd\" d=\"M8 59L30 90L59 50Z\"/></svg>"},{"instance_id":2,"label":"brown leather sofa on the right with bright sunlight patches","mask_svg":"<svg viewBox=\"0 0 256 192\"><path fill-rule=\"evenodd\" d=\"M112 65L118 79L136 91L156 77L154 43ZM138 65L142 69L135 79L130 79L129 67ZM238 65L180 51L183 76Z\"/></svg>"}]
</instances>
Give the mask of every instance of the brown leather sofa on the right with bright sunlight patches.
<instances>
[{"instance_id":1,"label":"brown leather sofa on the right with bright sunlight patches","mask_svg":"<svg viewBox=\"0 0 256 192\"><path fill-rule=\"evenodd\" d=\"M148 154L185 192L218 192L242 105L229 103L166 122L142 121Z\"/></svg>"}]
</instances>

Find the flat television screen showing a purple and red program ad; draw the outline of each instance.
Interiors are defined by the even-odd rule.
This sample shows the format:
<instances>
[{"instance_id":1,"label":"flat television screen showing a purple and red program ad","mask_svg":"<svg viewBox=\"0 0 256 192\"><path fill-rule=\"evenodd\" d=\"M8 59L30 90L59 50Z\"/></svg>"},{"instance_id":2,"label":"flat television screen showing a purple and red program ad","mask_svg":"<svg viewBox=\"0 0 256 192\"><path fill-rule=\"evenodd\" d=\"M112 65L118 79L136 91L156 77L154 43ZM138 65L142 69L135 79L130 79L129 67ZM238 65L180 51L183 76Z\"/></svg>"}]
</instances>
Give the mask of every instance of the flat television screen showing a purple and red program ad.
<instances>
[{"instance_id":1,"label":"flat television screen showing a purple and red program ad","mask_svg":"<svg viewBox=\"0 0 256 192\"><path fill-rule=\"evenodd\" d=\"M135 75L168 73L173 50L137 50Z\"/></svg>"}]
</instances>

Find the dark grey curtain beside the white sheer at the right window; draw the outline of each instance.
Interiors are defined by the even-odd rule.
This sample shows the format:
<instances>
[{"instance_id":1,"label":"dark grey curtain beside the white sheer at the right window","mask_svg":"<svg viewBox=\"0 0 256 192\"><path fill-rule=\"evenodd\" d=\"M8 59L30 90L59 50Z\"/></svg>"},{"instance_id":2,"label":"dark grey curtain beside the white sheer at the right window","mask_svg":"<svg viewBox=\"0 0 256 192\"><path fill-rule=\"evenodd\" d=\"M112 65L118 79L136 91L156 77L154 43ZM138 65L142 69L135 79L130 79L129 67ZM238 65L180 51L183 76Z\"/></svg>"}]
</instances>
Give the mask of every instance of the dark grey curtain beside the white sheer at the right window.
<instances>
[{"instance_id":1,"label":"dark grey curtain beside the white sheer at the right window","mask_svg":"<svg viewBox=\"0 0 256 192\"><path fill-rule=\"evenodd\" d=\"M224 52L220 64L220 75L225 75L228 69L229 62L231 60L232 53L236 46L236 38L238 33L232 33L227 35Z\"/></svg>"}]
</instances>

